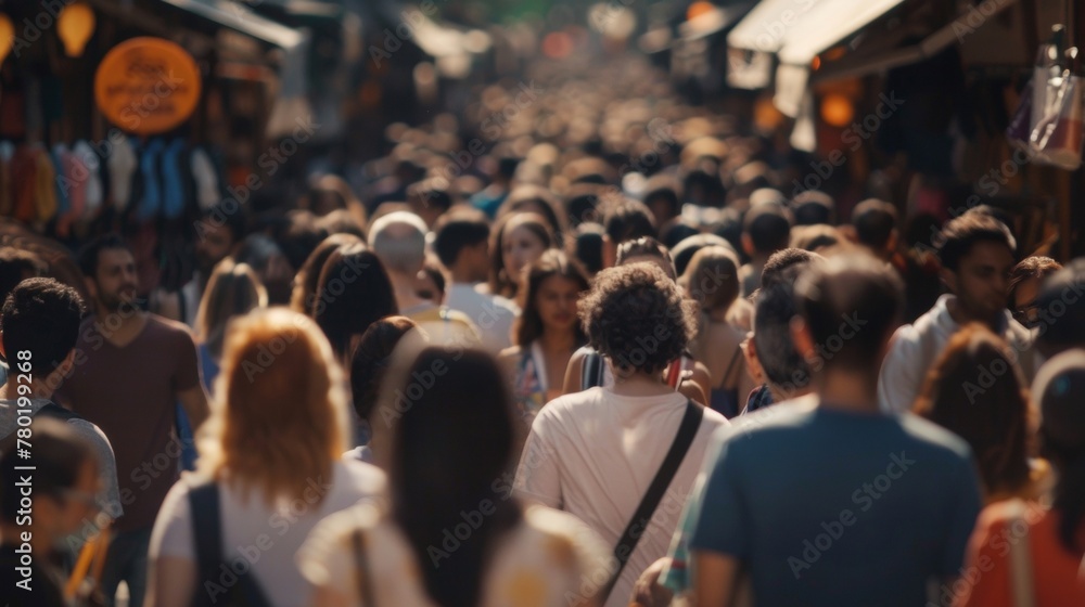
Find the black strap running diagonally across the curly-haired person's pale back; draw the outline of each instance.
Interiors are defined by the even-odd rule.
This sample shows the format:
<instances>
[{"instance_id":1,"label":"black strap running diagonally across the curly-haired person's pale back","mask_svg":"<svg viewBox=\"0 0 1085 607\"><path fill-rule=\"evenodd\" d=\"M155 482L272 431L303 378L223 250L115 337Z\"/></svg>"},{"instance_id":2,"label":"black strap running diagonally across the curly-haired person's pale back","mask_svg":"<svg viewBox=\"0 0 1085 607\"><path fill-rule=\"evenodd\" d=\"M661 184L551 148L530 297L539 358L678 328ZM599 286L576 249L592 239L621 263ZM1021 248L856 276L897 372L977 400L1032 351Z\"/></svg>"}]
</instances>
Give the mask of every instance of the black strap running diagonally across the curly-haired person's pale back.
<instances>
[{"instance_id":1,"label":"black strap running diagonally across the curly-haired person's pale back","mask_svg":"<svg viewBox=\"0 0 1085 607\"><path fill-rule=\"evenodd\" d=\"M601 598L600 604L607 602L607 598L614 590L614 584L617 583L617 579L622 576L622 570L625 569L626 561L637 547L637 542L640 541L640 537L648 529L652 514L655 513L660 501L663 500L663 493L671 486L675 473L678 472L678 466L686 459L689 447L693 444L693 438L697 436L698 428L701 427L701 419L703 417L704 408L693 404L693 401L686 399L686 414L682 415L681 424L678 426L678 434L675 436L674 442L671 443L671 450L667 451L666 456L663 459L663 464L660 465L659 472L655 473L655 478L652 479L652 483L648 486L648 491L644 492L644 496L640 500L637 512L634 513L617 545L614 546L614 558L617 559L617 569L599 593Z\"/></svg>"}]
</instances>

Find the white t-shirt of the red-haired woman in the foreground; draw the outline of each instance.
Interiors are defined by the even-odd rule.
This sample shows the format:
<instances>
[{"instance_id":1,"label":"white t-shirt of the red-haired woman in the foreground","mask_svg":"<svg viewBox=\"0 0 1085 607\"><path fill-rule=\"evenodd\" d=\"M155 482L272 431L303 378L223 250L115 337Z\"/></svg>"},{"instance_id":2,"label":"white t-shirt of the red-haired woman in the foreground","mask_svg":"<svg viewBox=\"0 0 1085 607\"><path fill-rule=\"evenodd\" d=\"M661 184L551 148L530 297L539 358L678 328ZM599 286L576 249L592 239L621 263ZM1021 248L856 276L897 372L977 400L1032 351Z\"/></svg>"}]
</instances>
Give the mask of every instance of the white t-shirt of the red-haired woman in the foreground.
<instances>
[{"instance_id":1,"label":"white t-shirt of the red-haired woman in the foreground","mask_svg":"<svg viewBox=\"0 0 1085 607\"><path fill-rule=\"evenodd\" d=\"M252 565L255 580L276 607L307 605L309 590L294 563L294 554L309 531L326 516L361 500L379 501L384 495L385 477L375 466L361 462L332 464L328 483L314 478L302 498L281 501L275 507L254 490L247 503L238 490L220 485L222 550L227 563L244 558ZM315 505L317 495L323 500ZM181 479L169 490L151 534L151 558L165 556L195 561L189 482ZM194 592L204 592L194 587Z\"/></svg>"}]
</instances>

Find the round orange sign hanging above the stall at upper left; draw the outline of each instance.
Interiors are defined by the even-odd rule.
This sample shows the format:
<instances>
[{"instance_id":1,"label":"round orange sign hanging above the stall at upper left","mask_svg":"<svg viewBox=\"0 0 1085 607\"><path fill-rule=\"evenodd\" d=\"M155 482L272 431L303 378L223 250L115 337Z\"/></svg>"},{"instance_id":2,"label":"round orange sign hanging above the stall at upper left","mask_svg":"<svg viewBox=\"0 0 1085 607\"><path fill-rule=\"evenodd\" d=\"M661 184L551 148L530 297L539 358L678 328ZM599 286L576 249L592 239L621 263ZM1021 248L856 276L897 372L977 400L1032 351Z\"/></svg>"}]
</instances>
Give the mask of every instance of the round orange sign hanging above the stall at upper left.
<instances>
[{"instance_id":1,"label":"round orange sign hanging above the stall at upper left","mask_svg":"<svg viewBox=\"0 0 1085 607\"><path fill-rule=\"evenodd\" d=\"M136 134L168 131L200 102L200 69L184 49L162 38L132 38L106 53L94 75L98 108Z\"/></svg>"}]
</instances>

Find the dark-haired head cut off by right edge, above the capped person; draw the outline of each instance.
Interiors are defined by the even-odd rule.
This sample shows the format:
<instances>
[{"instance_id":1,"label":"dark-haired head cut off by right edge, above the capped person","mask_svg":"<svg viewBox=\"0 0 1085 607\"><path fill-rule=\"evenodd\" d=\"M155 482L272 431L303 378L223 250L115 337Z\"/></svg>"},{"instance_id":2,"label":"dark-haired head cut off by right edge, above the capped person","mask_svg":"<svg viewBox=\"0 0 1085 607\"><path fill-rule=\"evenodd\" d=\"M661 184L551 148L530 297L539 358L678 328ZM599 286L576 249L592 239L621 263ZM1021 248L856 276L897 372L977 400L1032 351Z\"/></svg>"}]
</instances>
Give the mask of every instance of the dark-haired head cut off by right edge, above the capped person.
<instances>
[{"instance_id":1,"label":"dark-haired head cut off by right edge, above the capped person","mask_svg":"<svg viewBox=\"0 0 1085 607\"><path fill-rule=\"evenodd\" d=\"M1036 296L1036 347L1045 357L1085 347L1085 258L1044 280Z\"/></svg>"}]
</instances>

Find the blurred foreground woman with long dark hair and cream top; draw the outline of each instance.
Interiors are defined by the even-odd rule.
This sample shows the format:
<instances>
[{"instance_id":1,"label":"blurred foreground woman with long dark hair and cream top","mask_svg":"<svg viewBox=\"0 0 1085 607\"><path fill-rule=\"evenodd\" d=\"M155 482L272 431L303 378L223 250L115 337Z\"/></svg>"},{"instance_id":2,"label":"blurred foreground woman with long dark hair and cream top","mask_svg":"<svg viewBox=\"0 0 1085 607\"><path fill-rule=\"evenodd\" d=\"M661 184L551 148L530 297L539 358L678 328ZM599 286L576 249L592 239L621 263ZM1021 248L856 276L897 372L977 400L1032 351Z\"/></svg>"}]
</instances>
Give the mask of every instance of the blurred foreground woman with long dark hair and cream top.
<instances>
[{"instance_id":1,"label":"blurred foreground woman with long dark hair and cream top","mask_svg":"<svg viewBox=\"0 0 1085 607\"><path fill-rule=\"evenodd\" d=\"M497 362L417 337L397 347L380 405L391 507L350 508L314 530L297 555L310 605L597 605L598 585L582 582L607 578L609 546L509 494L516 423Z\"/></svg>"}]
</instances>

